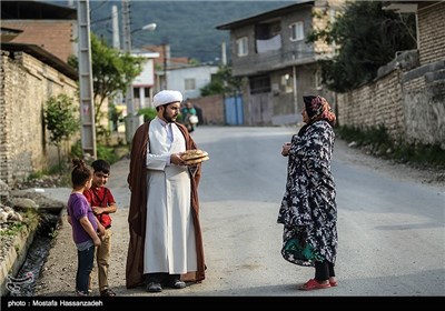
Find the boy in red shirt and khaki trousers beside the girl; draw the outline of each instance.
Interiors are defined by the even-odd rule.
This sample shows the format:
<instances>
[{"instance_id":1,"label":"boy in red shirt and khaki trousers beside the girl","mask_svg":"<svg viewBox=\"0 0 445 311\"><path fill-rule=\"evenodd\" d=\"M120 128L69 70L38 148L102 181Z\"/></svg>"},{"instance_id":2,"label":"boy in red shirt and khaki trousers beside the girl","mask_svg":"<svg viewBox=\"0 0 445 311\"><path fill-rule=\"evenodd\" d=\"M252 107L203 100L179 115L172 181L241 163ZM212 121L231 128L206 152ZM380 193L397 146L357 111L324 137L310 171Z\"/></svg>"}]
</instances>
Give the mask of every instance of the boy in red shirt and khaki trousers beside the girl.
<instances>
[{"instance_id":1,"label":"boy in red shirt and khaki trousers beside the girl","mask_svg":"<svg viewBox=\"0 0 445 311\"><path fill-rule=\"evenodd\" d=\"M108 285L108 268L110 265L111 252L111 217L109 214L116 212L117 204L111 191L105 187L110 177L110 164L99 159L93 161L91 167L95 170L92 174L92 184L83 194L91 204L91 209L97 219L106 229L105 235L101 237L101 244L96 250L99 291L101 297L113 297L116 293Z\"/></svg>"}]
</instances>

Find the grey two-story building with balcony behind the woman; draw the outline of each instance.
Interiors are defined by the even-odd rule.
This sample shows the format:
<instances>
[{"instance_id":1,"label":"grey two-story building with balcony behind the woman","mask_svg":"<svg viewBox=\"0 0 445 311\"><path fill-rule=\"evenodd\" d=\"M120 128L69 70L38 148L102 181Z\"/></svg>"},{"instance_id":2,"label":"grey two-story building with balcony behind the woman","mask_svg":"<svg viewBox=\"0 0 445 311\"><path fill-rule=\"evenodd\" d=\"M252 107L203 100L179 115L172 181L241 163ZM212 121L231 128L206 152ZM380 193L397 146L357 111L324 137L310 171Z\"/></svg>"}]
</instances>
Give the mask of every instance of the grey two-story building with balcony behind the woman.
<instances>
[{"instance_id":1,"label":"grey two-story building with balcony behind the woman","mask_svg":"<svg viewBox=\"0 0 445 311\"><path fill-rule=\"evenodd\" d=\"M230 31L234 77L245 81L245 123L280 126L299 122L303 96L319 94L335 106L335 94L320 79L317 61L330 58L334 46L308 43L307 34L333 22L343 0L297 3L217 26Z\"/></svg>"}]
</instances>

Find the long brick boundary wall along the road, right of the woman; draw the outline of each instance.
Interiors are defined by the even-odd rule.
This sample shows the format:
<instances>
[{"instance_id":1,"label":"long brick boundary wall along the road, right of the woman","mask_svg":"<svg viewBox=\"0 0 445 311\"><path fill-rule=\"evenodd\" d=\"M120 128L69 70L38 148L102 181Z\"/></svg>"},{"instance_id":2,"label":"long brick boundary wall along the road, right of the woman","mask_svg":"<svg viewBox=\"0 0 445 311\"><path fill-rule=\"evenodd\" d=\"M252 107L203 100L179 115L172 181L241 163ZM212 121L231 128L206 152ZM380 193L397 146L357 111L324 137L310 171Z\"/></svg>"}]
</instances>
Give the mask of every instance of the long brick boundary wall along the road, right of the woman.
<instances>
[{"instance_id":1,"label":"long brick boundary wall along the road, right of the woman","mask_svg":"<svg viewBox=\"0 0 445 311\"><path fill-rule=\"evenodd\" d=\"M357 129L384 126L406 142L445 149L445 61L385 77L338 94L338 122Z\"/></svg>"}]
</instances>

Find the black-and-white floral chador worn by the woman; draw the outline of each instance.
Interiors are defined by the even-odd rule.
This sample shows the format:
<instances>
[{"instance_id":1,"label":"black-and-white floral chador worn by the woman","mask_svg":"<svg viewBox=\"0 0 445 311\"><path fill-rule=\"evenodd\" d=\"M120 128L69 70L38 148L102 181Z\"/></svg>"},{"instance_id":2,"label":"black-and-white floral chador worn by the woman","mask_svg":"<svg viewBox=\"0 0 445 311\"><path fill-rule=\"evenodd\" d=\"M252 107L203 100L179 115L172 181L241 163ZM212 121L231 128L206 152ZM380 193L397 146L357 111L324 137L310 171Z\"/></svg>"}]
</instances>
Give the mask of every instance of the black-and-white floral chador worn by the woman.
<instances>
[{"instance_id":1,"label":"black-and-white floral chador worn by the woman","mask_svg":"<svg viewBox=\"0 0 445 311\"><path fill-rule=\"evenodd\" d=\"M324 119L303 127L291 139L277 222L284 224L281 254L298 265L336 260L337 204L330 173L334 140L333 128Z\"/></svg>"}]
</instances>

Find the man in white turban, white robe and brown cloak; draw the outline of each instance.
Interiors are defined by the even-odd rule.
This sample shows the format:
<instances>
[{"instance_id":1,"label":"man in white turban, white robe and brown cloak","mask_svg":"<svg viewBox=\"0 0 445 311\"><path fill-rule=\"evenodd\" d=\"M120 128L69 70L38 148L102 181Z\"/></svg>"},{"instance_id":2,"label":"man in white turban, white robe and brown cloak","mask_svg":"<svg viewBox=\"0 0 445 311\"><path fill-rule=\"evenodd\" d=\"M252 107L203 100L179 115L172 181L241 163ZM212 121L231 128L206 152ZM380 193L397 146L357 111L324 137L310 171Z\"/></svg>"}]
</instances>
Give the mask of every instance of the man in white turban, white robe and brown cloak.
<instances>
[{"instance_id":1,"label":"man in white turban, white robe and brown cloak","mask_svg":"<svg viewBox=\"0 0 445 311\"><path fill-rule=\"evenodd\" d=\"M180 159L181 152L197 148L176 122L181 101L178 91L157 93L157 117L140 126L132 140L127 288L142 284L147 273L205 279L197 191L200 164L187 167Z\"/></svg>"}]
</instances>

